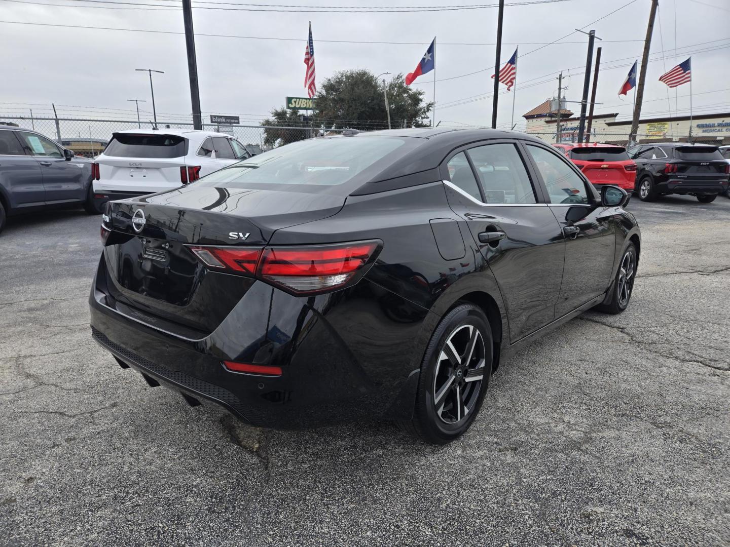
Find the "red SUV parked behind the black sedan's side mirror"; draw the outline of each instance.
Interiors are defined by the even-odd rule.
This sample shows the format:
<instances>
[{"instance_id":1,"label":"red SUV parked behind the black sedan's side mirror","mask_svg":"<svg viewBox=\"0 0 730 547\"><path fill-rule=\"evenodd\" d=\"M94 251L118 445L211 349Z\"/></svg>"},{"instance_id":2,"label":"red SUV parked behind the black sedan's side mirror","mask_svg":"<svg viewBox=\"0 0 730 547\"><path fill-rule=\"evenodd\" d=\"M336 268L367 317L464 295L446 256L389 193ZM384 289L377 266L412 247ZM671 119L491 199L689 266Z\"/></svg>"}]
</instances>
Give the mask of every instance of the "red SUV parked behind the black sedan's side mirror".
<instances>
[{"instance_id":1,"label":"red SUV parked behind the black sedan's side mirror","mask_svg":"<svg viewBox=\"0 0 730 547\"><path fill-rule=\"evenodd\" d=\"M601 142L553 146L575 163L593 185L616 185L629 193L634 191L637 164L629 158L626 148Z\"/></svg>"}]
</instances>

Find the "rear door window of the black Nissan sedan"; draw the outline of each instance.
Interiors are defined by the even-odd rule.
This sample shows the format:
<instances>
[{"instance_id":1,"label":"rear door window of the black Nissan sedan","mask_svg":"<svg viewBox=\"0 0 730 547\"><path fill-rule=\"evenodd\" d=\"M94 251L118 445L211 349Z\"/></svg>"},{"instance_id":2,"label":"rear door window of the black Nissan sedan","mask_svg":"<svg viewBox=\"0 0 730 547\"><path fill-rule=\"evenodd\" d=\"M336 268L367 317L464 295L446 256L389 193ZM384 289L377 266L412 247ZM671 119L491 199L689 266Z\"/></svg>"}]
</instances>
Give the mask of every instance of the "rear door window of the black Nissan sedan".
<instances>
[{"instance_id":1,"label":"rear door window of the black Nissan sedan","mask_svg":"<svg viewBox=\"0 0 730 547\"><path fill-rule=\"evenodd\" d=\"M537 203L525 164L514 144L487 144L469 150L486 203Z\"/></svg>"}]
</instances>

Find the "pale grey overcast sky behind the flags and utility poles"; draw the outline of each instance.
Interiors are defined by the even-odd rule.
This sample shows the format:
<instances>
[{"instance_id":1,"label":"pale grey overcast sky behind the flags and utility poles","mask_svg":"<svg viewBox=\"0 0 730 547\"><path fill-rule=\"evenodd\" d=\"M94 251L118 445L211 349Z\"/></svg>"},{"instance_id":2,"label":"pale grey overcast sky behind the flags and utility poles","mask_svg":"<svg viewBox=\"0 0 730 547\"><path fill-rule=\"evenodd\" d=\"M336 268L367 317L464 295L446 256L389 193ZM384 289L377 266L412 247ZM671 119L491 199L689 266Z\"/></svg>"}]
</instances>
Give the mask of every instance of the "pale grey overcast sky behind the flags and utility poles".
<instances>
[{"instance_id":1,"label":"pale grey overcast sky behind the flags and utility poles","mask_svg":"<svg viewBox=\"0 0 730 547\"><path fill-rule=\"evenodd\" d=\"M117 1L174 5L174 2L161 0ZM244 0L226 1L239 4ZM495 1L487 0L486 3L493 4ZM516 45L520 44L515 108L515 120L520 125L523 125L520 117L523 113L556 94L555 78L558 71L564 71L564 82L568 86L567 98L580 100L583 88L583 75L580 73L585 67L587 36L574 33L558 44L529 52L545 42L571 33L575 28L584 27L585 30L595 28L596 35L604 39L604 42L596 41L596 45L603 48L596 100L604 103L596 106L596 113L618 112L624 117L629 115L631 93L623 103L617 93L631 63L642 53L650 0L634 0L623 8L629 0L566 0L509 7L510 1L521 0L507 0L502 62L507 61ZM165 71L165 74L155 74L159 120L178 120L179 117L173 115L188 115L191 112L183 34L99 29L109 27L182 32L183 15L179 9L160 10L146 6L147 9L143 10L129 9L132 7L124 4L93 3L86 5L115 6L115 9L50 7L38 3L66 6L80 4L70 0L0 0L0 20L93 28L0 23L0 48L3 51L0 114L8 116L13 112L21 112L20 109L27 112L32 107L36 115L47 115L50 107L42 105L55 102L57 105L66 105L59 108L64 115L108 112L113 117L131 119L134 117L134 103L126 99L142 98L150 101L147 74L134 71L139 68ZM420 4L418 0L261 0L261 3L353 7L412 7ZM477 0L426 0L424 7L476 3ZM612 15L589 24L618 8L621 9ZM407 73L415 68L431 39L437 36L437 120L450 125L488 125L491 123L491 97L480 99L480 96L491 93L492 89L490 77L493 74L491 66L495 46L488 42L495 42L496 16L497 10L494 8L357 15L193 8L193 21L198 34L196 48L202 110L205 115L211 112L241 115L242 120L258 122L272 108L282 106L285 96L306 96L303 58L307 21L311 20L318 82L342 69L369 69L374 74L386 71L393 74ZM677 63L692 55L694 112L730 112L730 3L727 0L663 0L659 17L661 33L659 25L655 26L651 58L656 61L648 65L645 101L649 102L645 102L642 117L669 113L667 88L658 82L658 77L675 66L675 46L679 48L676 52ZM348 44L326 40L417 43ZM458 45L448 42L485 44ZM661 53L663 49L664 54ZM610 69L612 66L618 68ZM459 77L475 71L480 72ZM433 93L432 76L433 73L426 74L414 84L426 91L429 101ZM504 86L500 87L504 90ZM688 114L688 94L689 85L677 88L680 115ZM669 96L674 112L675 90L669 90ZM475 98L480 100L472 100ZM462 100L470 102L459 104ZM72 106L84 109L74 109ZM90 111L90 107L98 110ZM142 107L151 111L150 102ZM576 104L569 107L574 112L580 110ZM110 110L101 110L103 108ZM499 125L510 123L511 109L512 93L500 96Z\"/></svg>"}]
</instances>

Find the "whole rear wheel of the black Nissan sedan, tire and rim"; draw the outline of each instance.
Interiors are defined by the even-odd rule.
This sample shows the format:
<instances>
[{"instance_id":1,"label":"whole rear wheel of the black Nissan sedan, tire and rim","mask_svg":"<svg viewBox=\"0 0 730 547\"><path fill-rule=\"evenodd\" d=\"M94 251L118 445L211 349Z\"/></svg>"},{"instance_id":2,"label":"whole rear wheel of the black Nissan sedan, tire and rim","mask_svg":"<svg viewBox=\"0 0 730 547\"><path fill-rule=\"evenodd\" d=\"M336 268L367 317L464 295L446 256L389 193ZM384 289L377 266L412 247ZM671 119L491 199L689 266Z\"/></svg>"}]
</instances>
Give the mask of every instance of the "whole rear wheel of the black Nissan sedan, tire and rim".
<instances>
[{"instance_id":1,"label":"whole rear wheel of the black Nissan sedan, tire and rim","mask_svg":"<svg viewBox=\"0 0 730 547\"><path fill-rule=\"evenodd\" d=\"M464 352L453 355L447 342L456 352L464 346ZM473 348L471 354L469 346ZM482 406L492 370L493 348L489 321L480 308L464 303L449 311L426 347L413 419L396 422L399 427L431 444L450 443L464 435ZM438 408L437 393L442 394Z\"/></svg>"}]
</instances>

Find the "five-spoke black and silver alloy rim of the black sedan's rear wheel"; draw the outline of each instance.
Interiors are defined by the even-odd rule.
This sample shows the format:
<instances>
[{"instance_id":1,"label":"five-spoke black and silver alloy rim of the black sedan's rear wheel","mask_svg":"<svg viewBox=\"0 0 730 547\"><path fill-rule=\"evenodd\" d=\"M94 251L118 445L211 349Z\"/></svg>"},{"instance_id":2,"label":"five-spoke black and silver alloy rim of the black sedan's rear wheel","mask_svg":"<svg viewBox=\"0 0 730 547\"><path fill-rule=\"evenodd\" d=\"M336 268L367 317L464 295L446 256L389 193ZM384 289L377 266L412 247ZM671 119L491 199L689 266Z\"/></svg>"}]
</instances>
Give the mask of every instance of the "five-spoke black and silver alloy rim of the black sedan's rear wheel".
<instances>
[{"instance_id":1,"label":"five-spoke black and silver alloy rim of the black sedan's rear wheel","mask_svg":"<svg viewBox=\"0 0 730 547\"><path fill-rule=\"evenodd\" d=\"M479 400L485 372L479 329L456 327L439 353L434 374L434 407L442 422L456 424L469 416Z\"/></svg>"}]
</instances>

